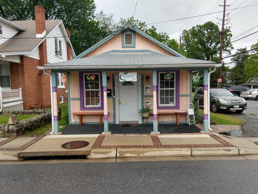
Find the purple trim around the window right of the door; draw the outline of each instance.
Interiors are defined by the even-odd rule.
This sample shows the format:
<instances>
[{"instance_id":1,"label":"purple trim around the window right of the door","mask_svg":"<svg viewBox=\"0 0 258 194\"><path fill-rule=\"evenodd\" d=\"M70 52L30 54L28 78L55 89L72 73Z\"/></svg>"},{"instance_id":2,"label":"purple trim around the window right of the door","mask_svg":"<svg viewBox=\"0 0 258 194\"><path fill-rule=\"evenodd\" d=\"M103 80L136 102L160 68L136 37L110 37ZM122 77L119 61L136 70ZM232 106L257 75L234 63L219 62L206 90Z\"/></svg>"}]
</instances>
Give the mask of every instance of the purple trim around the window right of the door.
<instances>
[{"instance_id":1,"label":"purple trim around the window right of the door","mask_svg":"<svg viewBox=\"0 0 258 194\"><path fill-rule=\"evenodd\" d=\"M176 106L159 106L159 72L176 73ZM157 109L180 109L180 70L157 71Z\"/></svg>"}]
</instances>

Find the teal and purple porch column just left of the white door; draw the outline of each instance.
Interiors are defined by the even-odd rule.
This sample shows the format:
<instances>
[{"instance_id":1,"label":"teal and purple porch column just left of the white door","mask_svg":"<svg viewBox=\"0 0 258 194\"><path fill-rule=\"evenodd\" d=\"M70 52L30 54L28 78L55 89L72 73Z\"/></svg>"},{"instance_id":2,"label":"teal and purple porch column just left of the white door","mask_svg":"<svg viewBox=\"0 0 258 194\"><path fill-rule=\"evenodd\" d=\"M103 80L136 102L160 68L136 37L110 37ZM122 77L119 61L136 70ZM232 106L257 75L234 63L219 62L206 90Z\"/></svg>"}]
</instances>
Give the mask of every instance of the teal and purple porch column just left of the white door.
<instances>
[{"instance_id":1,"label":"teal and purple porch column just left of the white door","mask_svg":"<svg viewBox=\"0 0 258 194\"><path fill-rule=\"evenodd\" d=\"M102 85L104 97L104 132L108 133L108 111L107 111L107 94L106 94L106 71L102 71Z\"/></svg>"}]
</instances>

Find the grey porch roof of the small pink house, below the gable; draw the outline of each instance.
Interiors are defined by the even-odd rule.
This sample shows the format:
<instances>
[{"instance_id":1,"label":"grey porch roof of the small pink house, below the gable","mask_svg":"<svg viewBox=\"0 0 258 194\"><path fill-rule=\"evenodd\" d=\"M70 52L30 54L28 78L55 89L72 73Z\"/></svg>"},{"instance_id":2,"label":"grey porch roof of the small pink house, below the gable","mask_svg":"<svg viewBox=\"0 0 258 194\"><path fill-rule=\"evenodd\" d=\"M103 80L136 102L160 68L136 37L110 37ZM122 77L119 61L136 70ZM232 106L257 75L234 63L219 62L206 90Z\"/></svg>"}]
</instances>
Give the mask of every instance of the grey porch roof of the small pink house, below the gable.
<instances>
[{"instance_id":1,"label":"grey porch roof of the small pink house, below the gable","mask_svg":"<svg viewBox=\"0 0 258 194\"><path fill-rule=\"evenodd\" d=\"M182 57L167 56L150 50L109 51L88 58L74 59L38 66L39 69L110 69L110 68L164 68L164 67L219 67L221 64Z\"/></svg>"}]
</instances>

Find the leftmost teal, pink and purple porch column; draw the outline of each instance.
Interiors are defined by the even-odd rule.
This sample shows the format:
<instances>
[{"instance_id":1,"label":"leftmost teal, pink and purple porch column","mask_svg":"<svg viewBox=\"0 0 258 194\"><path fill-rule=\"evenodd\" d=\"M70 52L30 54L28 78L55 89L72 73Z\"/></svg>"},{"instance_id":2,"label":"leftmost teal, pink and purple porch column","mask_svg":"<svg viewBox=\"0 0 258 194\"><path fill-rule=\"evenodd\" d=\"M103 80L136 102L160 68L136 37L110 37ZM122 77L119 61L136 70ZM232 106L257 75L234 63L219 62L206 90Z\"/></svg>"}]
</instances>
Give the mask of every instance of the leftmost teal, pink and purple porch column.
<instances>
[{"instance_id":1,"label":"leftmost teal, pink and purple porch column","mask_svg":"<svg viewBox=\"0 0 258 194\"><path fill-rule=\"evenodd\" d=\"M58 104L57 104L57 74L56 71L51 72L51 84L52 84L52 93L53 93L53 113L52 115L54 117L54 134L59 133L59 125L58 125Z\"/></svg>"}]
</instances>

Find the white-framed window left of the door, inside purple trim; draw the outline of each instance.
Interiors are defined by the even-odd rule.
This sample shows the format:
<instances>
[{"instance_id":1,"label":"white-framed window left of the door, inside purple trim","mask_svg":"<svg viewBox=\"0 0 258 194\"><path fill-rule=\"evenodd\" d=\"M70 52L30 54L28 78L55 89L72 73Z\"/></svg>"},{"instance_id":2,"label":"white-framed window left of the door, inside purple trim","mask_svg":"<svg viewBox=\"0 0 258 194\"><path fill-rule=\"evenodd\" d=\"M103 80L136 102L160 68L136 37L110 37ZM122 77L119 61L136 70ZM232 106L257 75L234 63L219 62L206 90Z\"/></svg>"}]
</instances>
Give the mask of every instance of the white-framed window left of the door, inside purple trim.
<instances>
[{"instance_id":1,"label":"white-framed window left of the door, inside purple trim","mask_svg":"<svg viewBox=\"0 0 258 194\"><path fill-rule=\"evenodd\" d=\"M99 73L83 74L84 107L101 107L101 84Z\"/></svg>"}]
</instances>

